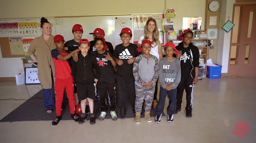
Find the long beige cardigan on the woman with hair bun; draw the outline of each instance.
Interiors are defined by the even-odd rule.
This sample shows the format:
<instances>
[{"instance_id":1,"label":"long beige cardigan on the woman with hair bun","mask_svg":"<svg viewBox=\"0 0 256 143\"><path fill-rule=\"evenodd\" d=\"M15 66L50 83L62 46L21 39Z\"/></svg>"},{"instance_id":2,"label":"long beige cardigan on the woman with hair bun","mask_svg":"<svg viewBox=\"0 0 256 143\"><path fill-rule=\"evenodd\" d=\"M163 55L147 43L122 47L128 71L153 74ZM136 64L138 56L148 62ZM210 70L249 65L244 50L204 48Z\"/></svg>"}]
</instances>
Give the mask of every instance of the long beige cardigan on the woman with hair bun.
<instances>
[{"instance_id":1,"label":"long beige cardigan on the woman with hair bun","mask_svg":"<svg viewBox=\"0 0 256 143\"><path fill-rule=\"evenodd\" d=\"M38 59L38 79L43 85L43 89L52 88L51 67L53 76L55 74L54 63L51 55L52 49L56 49L56 46L53 44L53 37L54 36L50 35L47 42L44 41L43 35L36 37L32 40L28 48L29 56L34 55L36 52Z\"/></svg>"}]
</instances>

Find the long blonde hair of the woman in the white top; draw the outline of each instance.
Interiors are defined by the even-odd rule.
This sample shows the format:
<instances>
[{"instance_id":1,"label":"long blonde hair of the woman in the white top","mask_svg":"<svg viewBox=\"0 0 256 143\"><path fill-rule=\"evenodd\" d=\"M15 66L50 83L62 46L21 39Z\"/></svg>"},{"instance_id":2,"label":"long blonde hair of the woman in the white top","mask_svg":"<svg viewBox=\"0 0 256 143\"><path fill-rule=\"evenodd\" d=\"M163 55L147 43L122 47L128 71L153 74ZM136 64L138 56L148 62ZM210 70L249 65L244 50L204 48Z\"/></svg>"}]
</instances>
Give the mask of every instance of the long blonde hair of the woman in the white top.
<instances>
[{"instance_id":1,"label":"long blonde hair of the woman in the white top","mask_svg":"<svg viewBox=\"0 0 256 143\"><path fill-rule=\"evenodd\" d=\"M152 41L152 43L155 44L155 45L160 44L159 31L158 31L158 28L157 28L156 20L153 19L153 18L149 18L148 21L146 22L146 25L144 26L144 39L143 40L148 40L149 39L149 37L148 37L148 23L149 23L149 21L153 21L156 25L155 30L153 31L153 36L152 36L153 41Z\"/></svg>"}]
</instances>

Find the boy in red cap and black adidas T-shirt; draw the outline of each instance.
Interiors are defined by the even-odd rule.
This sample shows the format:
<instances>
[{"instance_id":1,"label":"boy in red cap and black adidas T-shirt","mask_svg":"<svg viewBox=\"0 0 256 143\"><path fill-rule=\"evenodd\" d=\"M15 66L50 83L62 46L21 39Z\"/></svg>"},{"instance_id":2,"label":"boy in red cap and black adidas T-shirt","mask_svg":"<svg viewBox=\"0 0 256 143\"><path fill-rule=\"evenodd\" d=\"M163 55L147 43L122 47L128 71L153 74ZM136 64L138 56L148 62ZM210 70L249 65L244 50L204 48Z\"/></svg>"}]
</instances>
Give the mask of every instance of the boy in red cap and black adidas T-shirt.
<instances>
[{"instance_id":1,"label":"boy in red cap and black adidas T-shirt","mask_svg":"<svg viewBox=\"0 0 256 143\"><path fill-rule=\"evenodd\" d=\"M126 114L126 95L130 95L132 110L135 113L135 87L134 77L132 73L133 62L141 53L136 49L136 44L130 43L132 39L132 30L123 28L120 33L122 44L116 45L113 56L116 58L116 82L118 104L121 108L120 117L125 118Z\"/></svg>"}]
</instances>

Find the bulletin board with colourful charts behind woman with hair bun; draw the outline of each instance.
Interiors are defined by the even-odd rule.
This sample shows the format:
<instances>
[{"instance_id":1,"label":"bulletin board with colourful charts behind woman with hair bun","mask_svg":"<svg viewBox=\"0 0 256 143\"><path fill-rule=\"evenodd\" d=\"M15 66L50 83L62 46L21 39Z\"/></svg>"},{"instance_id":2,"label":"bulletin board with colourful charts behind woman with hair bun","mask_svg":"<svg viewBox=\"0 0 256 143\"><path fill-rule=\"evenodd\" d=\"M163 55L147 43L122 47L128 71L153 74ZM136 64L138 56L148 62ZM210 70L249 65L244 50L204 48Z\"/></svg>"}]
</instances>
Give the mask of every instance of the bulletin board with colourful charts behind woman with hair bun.
<instances>
[{"instance_id":1,"label":"bulletin board with colourful charts behind woman with hair bun","mask_svg":"<svg viewBox=\"0 0 256 143\"><path fill-rule=\"evenodd\" d=\"M54 17L45 17L52 25L55 35ZM30 42L42 35L39 18L0 19L0 48L3 58L28 56ZM29 42L28 42L29 41Z\"/></svg>"}]
</instances>

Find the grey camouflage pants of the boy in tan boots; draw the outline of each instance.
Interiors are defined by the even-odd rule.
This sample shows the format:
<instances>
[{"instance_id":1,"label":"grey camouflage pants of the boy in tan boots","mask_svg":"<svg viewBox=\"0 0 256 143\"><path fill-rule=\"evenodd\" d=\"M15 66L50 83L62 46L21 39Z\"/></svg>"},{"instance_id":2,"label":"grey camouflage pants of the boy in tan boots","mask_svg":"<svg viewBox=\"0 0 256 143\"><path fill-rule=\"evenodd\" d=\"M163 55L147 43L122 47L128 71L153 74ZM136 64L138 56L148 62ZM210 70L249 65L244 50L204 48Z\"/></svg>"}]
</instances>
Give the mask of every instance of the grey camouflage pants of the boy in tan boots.
<instances>
[{"instance_id":1,"label":"grey camouflage pants of the boy in tan boots","mask_svg":"<svg viewBox=\"0 0 256 143\"><path fill-rule=\"evenodd\" d=\"M142 103L145 99L145 111L151 110L152 101L154 98L155 86L141 87L135 84L135 112L141 113Z\"/></svg>"}]
</instances>

